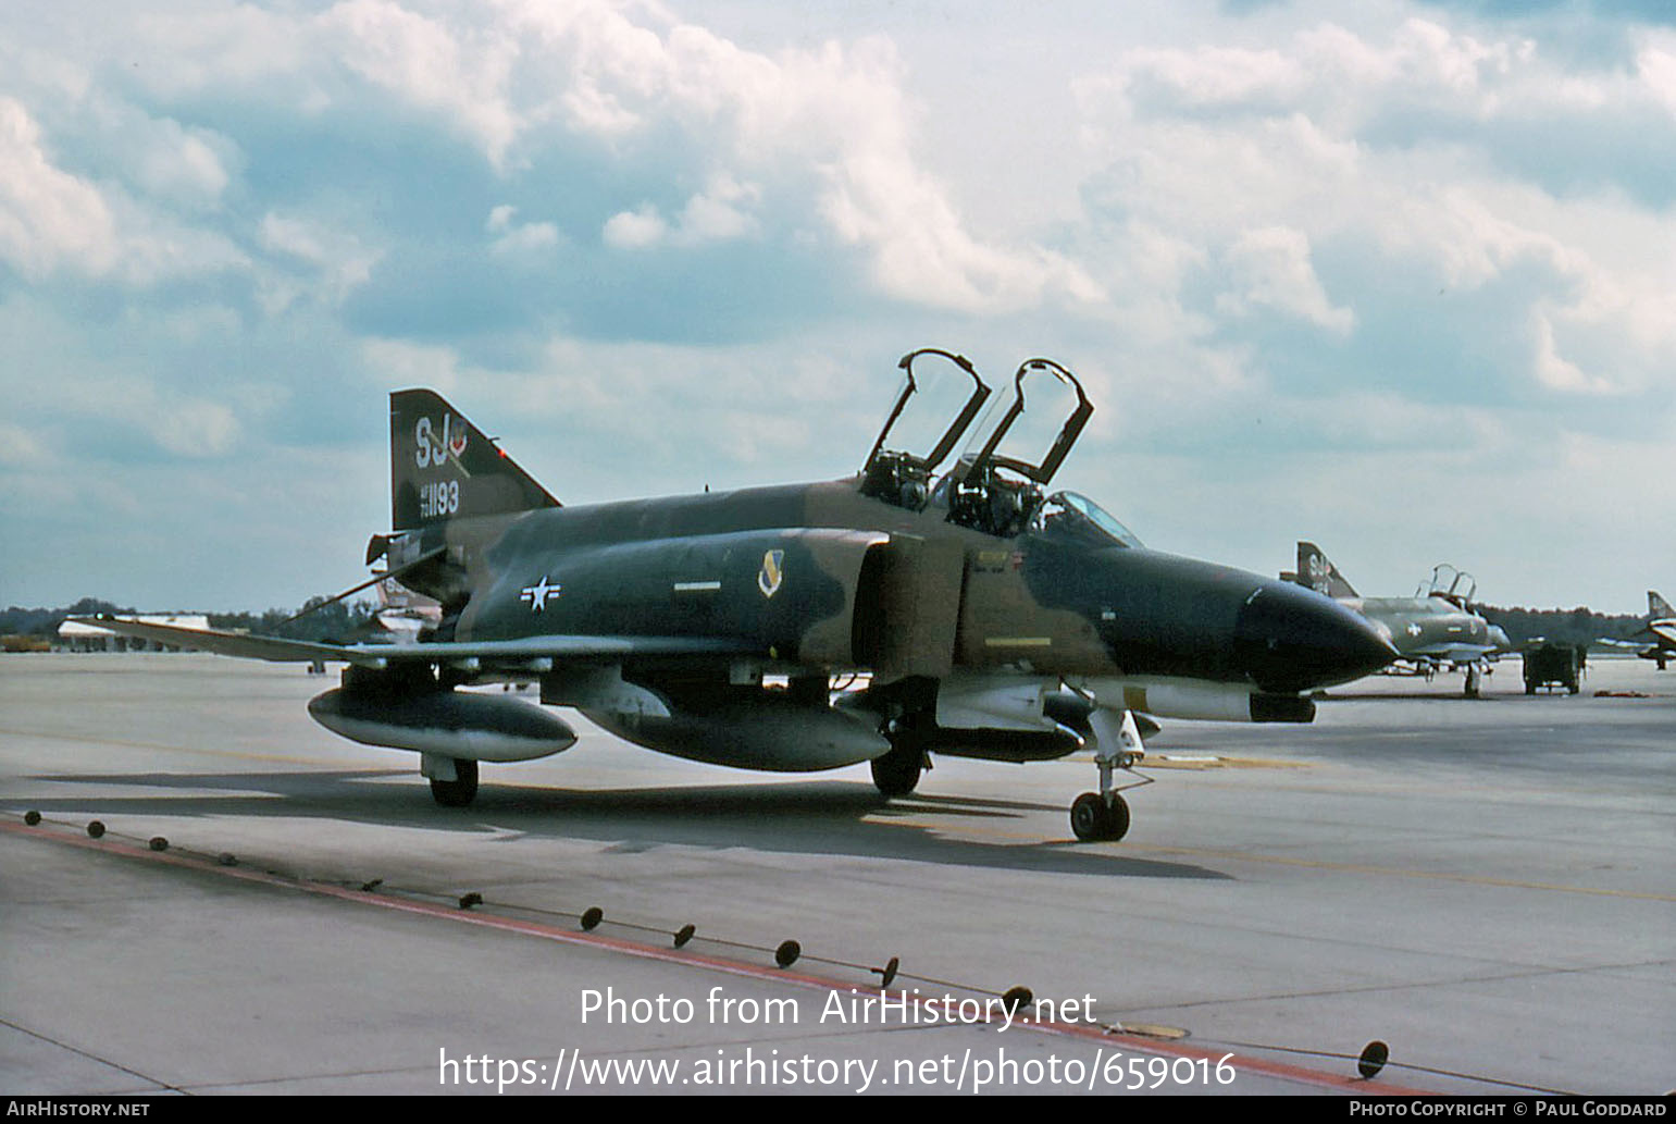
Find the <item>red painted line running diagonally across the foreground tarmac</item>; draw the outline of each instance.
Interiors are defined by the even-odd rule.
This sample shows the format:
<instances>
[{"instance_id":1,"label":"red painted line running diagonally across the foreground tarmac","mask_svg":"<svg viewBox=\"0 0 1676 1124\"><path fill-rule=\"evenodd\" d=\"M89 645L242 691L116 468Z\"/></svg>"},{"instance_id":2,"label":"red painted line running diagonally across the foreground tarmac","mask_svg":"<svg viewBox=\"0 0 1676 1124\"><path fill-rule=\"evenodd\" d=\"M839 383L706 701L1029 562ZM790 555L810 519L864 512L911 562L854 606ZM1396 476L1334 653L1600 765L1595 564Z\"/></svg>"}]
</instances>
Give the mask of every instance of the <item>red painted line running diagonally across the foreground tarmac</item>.
<instances>
[{"instance_id":1,"label":"red painted line running diagonally across the foreground tarmac","mask_svg":"<svg viewBox=\"0 0 1676 1124\"><path fill-rule=\"evenodd\" d=\"M535 936L546 941L558 941L561 944L577 944L583 948L605 950L612 953L622 953L625 956L635 956L639 960L654 960L667 965L680 965L685 968L702 968L707 971L719 971L731 976L744 976L751 980L761 980L766 983L793 985L813 991L853 991L858 997L880 997L885 998L890 993L873 983L853 985L841 980L830 980L825 976L811 976L798 971L788 971L784 968L768 968L764 965L753 965L742 960L724 960L721 956L707 956L704 953L689 953L674 948L655 948L652 944L640 944L635 941L625 941L613 936L602 936L597 933L578 933L573 929L561 929L553 924L541 921L525 921L520 918L506 918L493 913L476 913L473 909L459 909L454 906L441 906L427 901L412 901L406 898L392 898L389 894L375 894L369 891L347 889L344 886L332 886L330 882L312 882L307 879L292 879L280 874L270 874L268 871L251 871L248 867L236 866L218 866L210 864L203 859L189 859L179 854L171 854L168 851L151 851L146 847L137 847L134 844L117 842L112 839L91 839L82 835L69 835L62 829L49 827L28 827L25 824L0 824L0 832L8 832L13 835L27 835L30 839L42 839L47 842L70 844L74 847L84 847L87 851L101 851L104 854L119 856L124 859L146 859L151 862L163 862L166 866L174 866L181 869L220 874L225 877L243 879L246 882L256 882L261 886L275 886L280 889L292 889L303 894L315 894L320 898L337 898L340 901L352 901L362 906L379 906L382 909L394 909L397 913L411 913L426 918L436 918L442 921L458 921L463 924L474 924L479 928L498 929L501 933L518 933L521 936ZM905 988L898 988L898 993ZM895 1000L893 1000L895 1002ZM942 997L925 997L920 995L912 1000L920 1007L937 1007ZM984 1023L994 1023L1001 1020L984 1018L977 1020ZM949 1023L935 1022L925 1025L972 1025L967 1022ZM1430 1097L1436 1095L1428 1089L1408 1089L1404 1085L1391 1085L1386 1082L1363 1080L1356 1077L1341 1077L1339 1074L1327 1074L1324 1070L1307 1069L1302 1065L1291 1065L1287 1062L1272 1062L1269 1059L1250 1057L1237 1054L1234 1050L1210 1050L1195 1045L1182 1045L1177 1042L1158 1042L1156 1038L1145 1038L1138 1035L1113 1033L1096 1025L1083 1023L1064 1023L1064 1022L1032 1022L1032 1020L1014 1020L1012 1023L1019 1030L1034 1030L1037 1033L1056 1035L1063 1038L1083 1038L1088 1042L1098 1042L1101 1045L1121 1045L1136 1054L1151 1054L1172 1059L1190 1059L1195 1062L1215 1064L1218 1060L1227 1060L1240 1074L1257 1074L1262 1077L1272 1077L1277 1080L1287 1080L1304 1085L1314 1085L1317 1089L1337 1089L1346 1094L1356 1094L1364 1097Z\"/></svg>"}]
</instances>

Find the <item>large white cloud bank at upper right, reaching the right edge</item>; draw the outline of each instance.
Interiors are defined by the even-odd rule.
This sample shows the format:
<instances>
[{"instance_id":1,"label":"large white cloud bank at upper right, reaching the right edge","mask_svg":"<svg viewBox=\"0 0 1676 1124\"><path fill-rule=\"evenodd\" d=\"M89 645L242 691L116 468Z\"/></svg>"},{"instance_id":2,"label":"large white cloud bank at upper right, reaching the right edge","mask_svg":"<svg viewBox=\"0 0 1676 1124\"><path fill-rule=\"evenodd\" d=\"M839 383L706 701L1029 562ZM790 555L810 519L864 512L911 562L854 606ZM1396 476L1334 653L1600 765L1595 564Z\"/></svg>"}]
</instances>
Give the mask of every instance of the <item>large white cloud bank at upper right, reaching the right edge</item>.
<instances>
[{"instance_id":1,"label":"large white cloud bank at upper right, reaching the right edge","mask_svg":"<svg viewBox=\"0 0 1676 1124\"><path fill-rule=\"evenodd\" d=\"M1534 388L1644 388L1669 377L1653 372L1676 341L1659 265L1676 228L1622 195L1520 180L1495 144L1545 109L1567 129L1634 119L1666 75L1661 42L1639 50L1639 87L1569 72L1529 39L1430 20L1383 42L1324 25L1260 50L1131 50L1079 86L1084 134L1111 161L1094 198L1130 228L1215 247L1225 317L1269 309L1349 336L1356 290L1384 304L1394 272L1421 292L1430 280L1502 294L1513 307L1483 339ZM1564 134L1552 144L1562 161ZM1322 247L1379 257L1329 297L1314 265Z\"/></svg>"}]
</instances>

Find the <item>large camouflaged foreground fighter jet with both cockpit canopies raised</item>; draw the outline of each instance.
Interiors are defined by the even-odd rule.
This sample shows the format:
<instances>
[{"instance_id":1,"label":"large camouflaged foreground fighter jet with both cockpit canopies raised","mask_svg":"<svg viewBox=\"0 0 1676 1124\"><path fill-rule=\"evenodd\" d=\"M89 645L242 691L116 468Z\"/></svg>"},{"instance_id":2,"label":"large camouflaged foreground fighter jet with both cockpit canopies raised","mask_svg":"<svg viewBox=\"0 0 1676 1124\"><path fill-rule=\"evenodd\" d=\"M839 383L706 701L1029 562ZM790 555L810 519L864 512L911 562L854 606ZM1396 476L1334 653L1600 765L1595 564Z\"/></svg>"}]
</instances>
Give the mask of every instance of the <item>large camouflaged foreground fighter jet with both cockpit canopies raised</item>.
<instances>
[{"instance_id":1,"label":"large camouflaged foreground fighter jet with both cockpit canopies raised","mask_svg":"<svg viewBox=\"0 0 1676 1124\"><path fill-rule=\"evenodd\" d=\"M1071 809L1081 839L1128 829L1115 773L1141 755L1131 711L1311 721L1311 689L1394 656L1331 597L1148 550L1094 502L1049 495L1093 413L1063 366L1022 364L1006 409L944 473L991 388L945 351L900 366L905 384L855 476L588 507L560 505L432 391L396 391L392 533L374 535L367 562L441 602L417 643L97 622L233 656L347 663L313 718L419 752L444 805L476 797L478 762L575 742L550 711L456 689L538 679L541 703L652 750L779 772L872 762L885 795L912 792L932 753L1032 762L1093 748L1099 792ZM1026 386L1036 419L1039 396L1071 404L1037 461L1001 451ZM1046 418L1051 431L1059 414ZM833 691L835 676L865 686Z\"/></svg>"}]
</instances>

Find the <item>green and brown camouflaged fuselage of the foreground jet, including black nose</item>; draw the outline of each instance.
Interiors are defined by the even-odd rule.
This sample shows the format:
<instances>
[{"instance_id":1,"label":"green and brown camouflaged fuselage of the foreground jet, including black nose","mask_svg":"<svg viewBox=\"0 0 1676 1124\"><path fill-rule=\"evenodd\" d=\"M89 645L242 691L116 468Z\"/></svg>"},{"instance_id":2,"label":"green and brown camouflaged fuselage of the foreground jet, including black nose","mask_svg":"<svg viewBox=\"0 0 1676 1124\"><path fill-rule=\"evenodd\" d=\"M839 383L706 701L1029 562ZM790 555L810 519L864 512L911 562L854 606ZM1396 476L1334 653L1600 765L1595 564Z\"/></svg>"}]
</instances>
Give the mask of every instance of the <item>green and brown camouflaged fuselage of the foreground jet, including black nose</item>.
<instances>
[{"instance_id":1,"label":"green and brown camouflaged fuselage of the foreground jet, including black nose","mask_svg":"<svg viewBox=\"0 0 1676 1124\"><path fill-rule=\"evenodd\" d=\"M1014 669L1297 693L1384 664L1356 614L1291 582L1051 522L1012 539L856 480L543 508L422 528L404 580L458 612L442 641L732 636L789 671L875 679ZM1136 684L1130 684L1138 686Z\"/></svg>"}]
</instances>

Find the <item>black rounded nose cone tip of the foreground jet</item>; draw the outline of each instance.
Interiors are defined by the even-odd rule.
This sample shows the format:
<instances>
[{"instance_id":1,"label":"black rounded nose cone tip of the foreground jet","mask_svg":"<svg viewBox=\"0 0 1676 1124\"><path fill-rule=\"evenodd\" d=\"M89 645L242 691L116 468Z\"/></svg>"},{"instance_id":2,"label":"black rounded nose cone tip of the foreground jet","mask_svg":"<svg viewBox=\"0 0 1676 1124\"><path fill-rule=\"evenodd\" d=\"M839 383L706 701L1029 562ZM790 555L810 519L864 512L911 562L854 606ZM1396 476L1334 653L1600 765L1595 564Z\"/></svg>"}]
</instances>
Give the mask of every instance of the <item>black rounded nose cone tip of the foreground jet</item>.
<instances>
[{"instance_id":1,"label":"black rounded nose cone tip of the foreground jet","mask_svg":"<svg viewBox=\"0 0 1676 1124\"><path fill-rule=\"evenodd\" d=\"M1396 659L1366 617L1292 582L1264 582L1234 626L1235 661L1264 691L1349 683Z\"/></svg>"}]
</instances>

